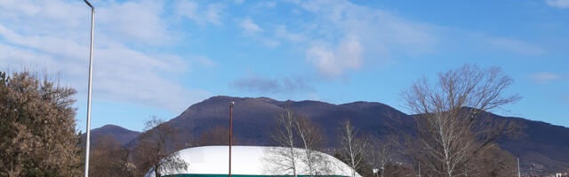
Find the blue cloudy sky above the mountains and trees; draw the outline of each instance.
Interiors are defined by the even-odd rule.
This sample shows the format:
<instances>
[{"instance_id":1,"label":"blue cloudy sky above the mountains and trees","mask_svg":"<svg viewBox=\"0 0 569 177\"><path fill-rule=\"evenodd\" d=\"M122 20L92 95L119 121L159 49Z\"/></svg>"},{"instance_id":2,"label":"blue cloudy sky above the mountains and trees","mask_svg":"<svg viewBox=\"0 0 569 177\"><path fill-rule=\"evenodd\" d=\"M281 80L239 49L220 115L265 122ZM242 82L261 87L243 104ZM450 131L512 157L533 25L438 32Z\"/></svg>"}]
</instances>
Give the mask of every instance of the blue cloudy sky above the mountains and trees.
<instances>
[{"instance_id":1,"label":"blue cloudy sky above the mountains and trees","mask_svg":"<svg viewBox=\"0 0 569 177\"><path fill-rule=\"evenodd\" d=\"M523 98L496 113L569 127L569 0L114 1L96 9L92 127L133 130L210 96L408 112L413 81L499 66ZM0 69L78 90L84 131L90 12L83 1L0 0Z\"/></svg>"}]
</instances>

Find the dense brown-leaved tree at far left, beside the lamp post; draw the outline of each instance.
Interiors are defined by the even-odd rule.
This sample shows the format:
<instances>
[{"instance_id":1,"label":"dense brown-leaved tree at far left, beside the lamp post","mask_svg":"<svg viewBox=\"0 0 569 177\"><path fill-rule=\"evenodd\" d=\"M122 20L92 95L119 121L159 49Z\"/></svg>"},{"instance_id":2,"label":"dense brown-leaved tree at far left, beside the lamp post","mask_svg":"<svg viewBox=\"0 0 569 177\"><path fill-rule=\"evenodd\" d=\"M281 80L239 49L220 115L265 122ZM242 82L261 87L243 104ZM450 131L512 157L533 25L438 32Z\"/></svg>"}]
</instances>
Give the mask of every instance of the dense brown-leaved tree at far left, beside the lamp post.
<instances>
[{"instance_id":1,"label":"dense brown-leaved tree at far left, beside the lamp post","mask_svg":"<svg viewBox=\"0 0 569 177\"><path fill-rule=\"evenodd\" d=\"M79 176L75 89L0 72L0 176Z\"/></svg>"}]
</instances>

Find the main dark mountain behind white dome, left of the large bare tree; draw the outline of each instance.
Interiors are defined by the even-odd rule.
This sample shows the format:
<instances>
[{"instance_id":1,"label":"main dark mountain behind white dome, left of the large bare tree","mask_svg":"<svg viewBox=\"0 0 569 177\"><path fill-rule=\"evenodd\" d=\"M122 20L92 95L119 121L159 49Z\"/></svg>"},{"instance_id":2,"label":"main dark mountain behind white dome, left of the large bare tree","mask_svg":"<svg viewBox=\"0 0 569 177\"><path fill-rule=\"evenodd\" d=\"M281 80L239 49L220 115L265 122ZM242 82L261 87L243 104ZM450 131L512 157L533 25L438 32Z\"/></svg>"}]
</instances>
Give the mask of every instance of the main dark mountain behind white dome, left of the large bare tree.
<instances>
[{"instance_id":1,"label":"main dark mountain behind white dome, left of the large bare tree","mask_svg":"<svg viewBox=\"0 0 569 177\"><path fill-rule=\"evenodd\" d=\"M228 127L228 103L234 101L234 135L245 143L274 145L270 141L270 129L274 119L283 113L286 107L307 116L322 127L328 138L328 144L335 142L336 128L343 119L352 123L368 134L385 134L389 130L404 130L388 116L409 119L403 112L386 104L355 102L350 104L328 104L317 101L276 101L267 97L242 98L213 96L201 103L190 106L180 116L168 121L173 127L179 127L184 135L201 135L204 131L216 127ZM406 130L404 130L406 131Z\"/></svg>"}]
</instances>

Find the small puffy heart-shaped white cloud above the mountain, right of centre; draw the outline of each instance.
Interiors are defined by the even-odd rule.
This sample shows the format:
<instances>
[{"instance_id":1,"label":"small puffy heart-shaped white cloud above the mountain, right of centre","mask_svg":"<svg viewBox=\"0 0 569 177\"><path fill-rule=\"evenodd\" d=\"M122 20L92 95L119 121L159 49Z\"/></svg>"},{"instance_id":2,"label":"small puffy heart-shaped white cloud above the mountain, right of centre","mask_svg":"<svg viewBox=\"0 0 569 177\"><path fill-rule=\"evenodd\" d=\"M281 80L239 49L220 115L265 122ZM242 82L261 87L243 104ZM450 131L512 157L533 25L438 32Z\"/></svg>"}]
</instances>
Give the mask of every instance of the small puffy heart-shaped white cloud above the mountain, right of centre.
<instances>
[{"instance_id":1,"label":"small puffy heart-shaped white cloud above the mountain, right of centre","mask_svg":"<svg viewBox=\"0 0 569 177\"><path fill-rule=\"evenodd\" d=\"M336 50L314 45L306 51L306 58L326 76L338 76L348 69L358 69L363 63L363 47L357 40L341 42Z\"/></svg>"}]
</instances>

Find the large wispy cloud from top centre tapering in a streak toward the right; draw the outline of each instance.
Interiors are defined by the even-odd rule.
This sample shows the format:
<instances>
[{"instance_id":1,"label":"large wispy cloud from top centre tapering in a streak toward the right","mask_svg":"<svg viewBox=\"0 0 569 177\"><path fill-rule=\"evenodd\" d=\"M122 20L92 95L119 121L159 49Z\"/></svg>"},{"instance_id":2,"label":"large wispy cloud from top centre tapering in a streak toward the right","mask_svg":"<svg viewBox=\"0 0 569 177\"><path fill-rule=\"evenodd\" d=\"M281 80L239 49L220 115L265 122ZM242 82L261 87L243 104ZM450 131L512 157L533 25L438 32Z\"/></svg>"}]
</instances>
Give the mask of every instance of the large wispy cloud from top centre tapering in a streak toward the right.
<instances>
[{"instance_id":1,"label":"large wispy cloud from top centre tapering in a streak toward the right","mask_svg":"<svg viewBox=\"0 0 569 177\"><path fill-rule=\"evenodd\" d=\"M310 17L301 20L301 25L294 26L296 33L287 28L292 27L290 24L261 25L266 31L274 30L276 39L307 43L295 47L303 48L306 61L327 78L360 70L367 63L397 59L393 56L416 56L456 48L453 44L463 45L463 49L483 46L476 50L488 50L487 46L490 46L491 50L524 55L548 53L533 42L413 21L395 12L345 0L285 2L299 6L302 13ZM457 40L464 38L469 42ZM351 48L346 49L346 46Z\"/></svg>"}]
</instances>

